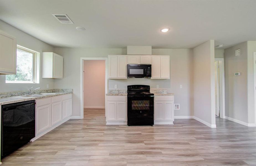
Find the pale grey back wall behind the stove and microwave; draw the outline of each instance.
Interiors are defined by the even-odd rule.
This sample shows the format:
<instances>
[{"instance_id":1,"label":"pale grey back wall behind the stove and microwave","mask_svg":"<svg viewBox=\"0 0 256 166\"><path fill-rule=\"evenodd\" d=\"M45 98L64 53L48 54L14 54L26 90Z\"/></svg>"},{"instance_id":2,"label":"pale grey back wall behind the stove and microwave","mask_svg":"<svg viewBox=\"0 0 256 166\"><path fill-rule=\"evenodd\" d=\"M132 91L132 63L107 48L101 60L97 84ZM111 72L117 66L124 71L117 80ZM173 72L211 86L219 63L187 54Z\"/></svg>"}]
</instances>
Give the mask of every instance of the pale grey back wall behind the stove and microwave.
<instances>
[{"instance_id":1,"label":"pale grey back wall behind the stove and microwave","mask_svg":"<svg viewBox=\"0 0 256 166\"><path fill-rule=\"evenodd\" d=\"M73 116L80 116L80 57L107 57L107 55L126 55L126 49L83 49L54 48L54 52L64 57L63 79L55 81L56 88L73 88ZM175 93L175 103L180 103L180 110L175 110L175 116L193 116L193 64L191 49L152 49L153 55L170 55L171 79L148 80L126 79L108 80L109 89L127 89L130 84L147 84L151 88L168 89ZM142 83L141 80L144 82ZM183 89L180 89L183 84Z\"/></svg>"}]
</instances>

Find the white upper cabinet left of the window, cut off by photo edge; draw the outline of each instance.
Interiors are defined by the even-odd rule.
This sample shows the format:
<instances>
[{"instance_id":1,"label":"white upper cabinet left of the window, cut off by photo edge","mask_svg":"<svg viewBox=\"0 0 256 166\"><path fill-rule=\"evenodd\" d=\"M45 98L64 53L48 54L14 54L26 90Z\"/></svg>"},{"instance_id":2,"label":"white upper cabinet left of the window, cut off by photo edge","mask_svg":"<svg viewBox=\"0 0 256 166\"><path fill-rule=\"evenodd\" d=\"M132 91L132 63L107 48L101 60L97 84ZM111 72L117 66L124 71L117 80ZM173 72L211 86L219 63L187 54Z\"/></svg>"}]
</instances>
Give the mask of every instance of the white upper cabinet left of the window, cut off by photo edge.
<instances>
[{"instance_id":1,"label":"white upper cabinet left of the window, cut off by photo edge","mask_svg":"<svg viewBox=\"0 0 256 166\"><path fill-rule=\"evenodd\" d=\"M0 30L0 74L16 74L16 38Z\"/></svg>"}]
</instances>

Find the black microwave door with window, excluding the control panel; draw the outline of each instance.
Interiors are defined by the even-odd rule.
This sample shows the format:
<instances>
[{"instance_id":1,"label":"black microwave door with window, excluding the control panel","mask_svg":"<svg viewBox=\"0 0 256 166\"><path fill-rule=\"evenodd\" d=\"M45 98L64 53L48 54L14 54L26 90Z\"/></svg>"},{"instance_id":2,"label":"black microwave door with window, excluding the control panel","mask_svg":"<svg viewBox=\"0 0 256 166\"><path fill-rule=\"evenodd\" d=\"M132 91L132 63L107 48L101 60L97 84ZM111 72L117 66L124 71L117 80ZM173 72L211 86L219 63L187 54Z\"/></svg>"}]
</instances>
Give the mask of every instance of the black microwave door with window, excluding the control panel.
<instances>
[{"instance_id":1,"label":"black microwave door with window, excluding the control panel","mask_svg":"<svg viewBox=\"0 0 256 166\"><path fill-rule=\"evenodd\" d=\"M145 75L146 69L144 66L129 65L127 66L127 77L143 78Z\"/></svg>"}]
</instances>

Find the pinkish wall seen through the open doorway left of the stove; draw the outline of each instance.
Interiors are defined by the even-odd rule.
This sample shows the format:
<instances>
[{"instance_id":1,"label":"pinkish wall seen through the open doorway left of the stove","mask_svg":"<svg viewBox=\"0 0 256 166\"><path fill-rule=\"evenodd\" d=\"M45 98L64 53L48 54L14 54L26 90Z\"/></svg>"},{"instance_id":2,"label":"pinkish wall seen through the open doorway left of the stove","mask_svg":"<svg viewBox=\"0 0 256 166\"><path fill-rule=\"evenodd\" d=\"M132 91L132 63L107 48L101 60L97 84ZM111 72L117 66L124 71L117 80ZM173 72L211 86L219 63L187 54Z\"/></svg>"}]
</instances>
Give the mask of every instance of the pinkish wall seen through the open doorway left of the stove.
<instances>
[{"instance_id":1,"label":"pinkish wall seen through the open doorway left of the stove","mask_svg":"<svg viewBox=\"0 0 256 166\"><path fill-rule=\"evenodd\" d=\"M84 107L105 108L104 60L84 60Z\"/></svg>"}]
</instances>

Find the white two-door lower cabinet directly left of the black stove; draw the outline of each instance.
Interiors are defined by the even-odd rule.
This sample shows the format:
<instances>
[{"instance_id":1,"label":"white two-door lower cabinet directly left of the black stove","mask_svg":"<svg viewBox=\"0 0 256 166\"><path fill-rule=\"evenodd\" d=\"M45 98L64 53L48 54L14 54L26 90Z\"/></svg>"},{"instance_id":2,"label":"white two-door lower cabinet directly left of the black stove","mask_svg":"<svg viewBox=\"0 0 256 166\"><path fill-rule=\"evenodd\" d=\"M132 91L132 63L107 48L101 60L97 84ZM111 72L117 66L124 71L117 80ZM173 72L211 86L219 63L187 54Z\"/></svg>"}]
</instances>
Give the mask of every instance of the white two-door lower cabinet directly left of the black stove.
<instances>
[{"instance_id":1,"label":"white two-door lower cabinet directly left of the black stove","mask_svg":"<svg viewBox=\"0 0 256 166\"><path fill-rule=\"evenodd\" d=\"M127 97L126 96L107 96L107 125L126 125L127 124Z\"/></svg>"}]
</instances>

